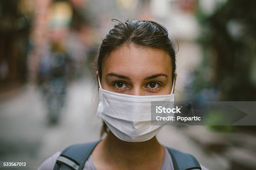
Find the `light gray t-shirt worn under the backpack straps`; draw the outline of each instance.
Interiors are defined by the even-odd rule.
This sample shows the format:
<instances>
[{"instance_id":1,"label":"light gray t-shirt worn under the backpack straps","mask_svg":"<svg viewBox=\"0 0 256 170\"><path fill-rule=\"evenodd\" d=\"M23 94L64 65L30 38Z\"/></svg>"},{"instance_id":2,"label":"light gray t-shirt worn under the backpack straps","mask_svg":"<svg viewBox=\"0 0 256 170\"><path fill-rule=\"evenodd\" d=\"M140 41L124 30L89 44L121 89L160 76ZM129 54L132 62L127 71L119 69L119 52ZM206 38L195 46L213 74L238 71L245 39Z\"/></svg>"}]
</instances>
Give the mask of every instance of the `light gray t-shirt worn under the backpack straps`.
<instances>
[{"instance_id":1,"label":"light gray t-shirt worn under the backpack straps","mask_svg":"<svg viewBox=\"0 0 256 170\"><path fill-rule=\"evenodd\" d=\"M53 170L54 165L56 163L56 160L59 158L59 155L61 152L56 152L54 155L51 157L47 158L38 168L38 170ZM207 170L205 167L201 165L202 170ZM83 170L96 170L95 165L92 160L92 156L88 158L88 160L84 164L84 169ZM174 170L173 163L172 163L172 158L168 150L165 148L164 149L164 161L161 167L161 170Z\"/></svg>"}]
</instances>

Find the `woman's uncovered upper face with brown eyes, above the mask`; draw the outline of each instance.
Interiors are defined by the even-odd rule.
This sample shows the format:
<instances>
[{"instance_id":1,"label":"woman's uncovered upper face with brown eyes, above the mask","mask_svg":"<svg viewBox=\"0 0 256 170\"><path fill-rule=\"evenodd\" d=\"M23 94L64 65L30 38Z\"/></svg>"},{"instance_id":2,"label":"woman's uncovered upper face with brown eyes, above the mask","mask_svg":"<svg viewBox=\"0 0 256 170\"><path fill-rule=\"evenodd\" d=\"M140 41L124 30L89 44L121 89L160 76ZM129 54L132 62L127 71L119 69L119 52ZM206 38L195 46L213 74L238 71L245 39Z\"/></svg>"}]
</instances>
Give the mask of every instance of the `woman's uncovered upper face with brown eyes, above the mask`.
<instances>
[{"instance_id":1,"label":"woman's uncovered upper face with brown eyes, above the mask","mask_svg":"<svg viewBox=\"0 0 256 170\"><path fill-rule=\"evenodd\" d=\"M102 62L102 88L127 95L172 91L172 61L164 50L123 45Z\"/></svg>"}]
</instances>

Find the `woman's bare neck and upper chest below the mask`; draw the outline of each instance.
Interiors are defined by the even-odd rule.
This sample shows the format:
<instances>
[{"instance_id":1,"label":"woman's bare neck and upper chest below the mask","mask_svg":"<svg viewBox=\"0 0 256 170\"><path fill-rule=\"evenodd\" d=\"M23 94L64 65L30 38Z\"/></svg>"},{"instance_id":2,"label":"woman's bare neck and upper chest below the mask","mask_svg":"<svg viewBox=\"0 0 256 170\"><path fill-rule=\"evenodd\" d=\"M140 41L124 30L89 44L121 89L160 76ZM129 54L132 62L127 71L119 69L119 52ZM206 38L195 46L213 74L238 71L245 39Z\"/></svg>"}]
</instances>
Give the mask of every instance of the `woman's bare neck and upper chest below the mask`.
<instances>
[{"instance_id":1,"label":"woman's bare neck and upper chest below the mask","mask_svg":"<svg viewBox=\"0 0 256 170\"><path fill-rule=\"evenodd\" d=\"M160 169L164 160L164 148L156 137L145 142L125 142L109 132L95 151L100 152L100 160L106 160L105 164L113 169ZM95 164L97 157L93 156Z\"/></svg>"}]
</instances>

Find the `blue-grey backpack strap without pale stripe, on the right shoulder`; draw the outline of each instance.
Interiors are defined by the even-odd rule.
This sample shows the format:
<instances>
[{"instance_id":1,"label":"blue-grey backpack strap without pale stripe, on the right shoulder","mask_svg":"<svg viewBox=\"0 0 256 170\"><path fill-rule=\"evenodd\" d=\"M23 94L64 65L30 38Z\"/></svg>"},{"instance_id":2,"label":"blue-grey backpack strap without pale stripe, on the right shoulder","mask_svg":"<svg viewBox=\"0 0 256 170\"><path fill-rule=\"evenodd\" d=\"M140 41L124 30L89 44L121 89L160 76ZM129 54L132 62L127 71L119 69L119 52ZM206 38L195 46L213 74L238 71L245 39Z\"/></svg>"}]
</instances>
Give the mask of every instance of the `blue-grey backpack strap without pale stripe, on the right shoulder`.
<instances>
[{"instance_id":1,"label":"blue-grey backpack strap without pale stripe, on the right shoulder","mask_svg":"<svg viewBox=\"0 0 256 170\"><path fill-rule=\"evenodd\" d=\"M167 148L167 147L166 147ZM172 157L174 170L201 170L200 163L190 154L167 148Z\"/></svg>"}]
</instances>

